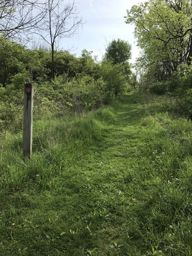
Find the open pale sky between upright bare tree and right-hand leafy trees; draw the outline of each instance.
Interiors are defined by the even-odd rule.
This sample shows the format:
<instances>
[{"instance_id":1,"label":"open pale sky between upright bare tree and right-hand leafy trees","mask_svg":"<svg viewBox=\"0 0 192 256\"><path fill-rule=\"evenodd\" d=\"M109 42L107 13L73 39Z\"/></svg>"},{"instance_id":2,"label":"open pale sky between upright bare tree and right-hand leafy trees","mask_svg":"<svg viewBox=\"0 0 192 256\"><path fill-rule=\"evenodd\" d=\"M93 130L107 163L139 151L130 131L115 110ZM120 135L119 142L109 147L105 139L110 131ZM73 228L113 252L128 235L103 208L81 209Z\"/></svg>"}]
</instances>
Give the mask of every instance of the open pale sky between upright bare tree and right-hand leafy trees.
<instances>
[{"instance_id":1,"label":"open pale sky between upright bare tree and right-hand leafy trees","mask_svg":"<svg viewBox=\"0 0 192 256\"><path fill-rule=\"evenodd\" d=\"M132 45L131 63L139 56L137 41L134 38L134 25L125 24L127 9L138 5L144 0L76 0L76 7L79 15L83 17L82 29L73 38L65 38L60 41L63 49L70 49L76 56L81 55L83 49L93 51L102 59L107 43L113 39L122 39Z\"/></svg>"}]
</instances>

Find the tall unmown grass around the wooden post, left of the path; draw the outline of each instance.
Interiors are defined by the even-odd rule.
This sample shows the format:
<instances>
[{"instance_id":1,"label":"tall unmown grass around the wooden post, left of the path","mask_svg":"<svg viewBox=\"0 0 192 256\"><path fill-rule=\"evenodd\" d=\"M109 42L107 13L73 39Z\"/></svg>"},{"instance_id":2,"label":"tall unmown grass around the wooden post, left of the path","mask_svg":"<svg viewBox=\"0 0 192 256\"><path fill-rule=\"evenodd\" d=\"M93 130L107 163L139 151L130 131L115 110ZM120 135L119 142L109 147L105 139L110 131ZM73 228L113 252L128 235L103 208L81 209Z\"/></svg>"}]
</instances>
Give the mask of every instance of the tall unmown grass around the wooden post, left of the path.
<instances>
[{"instance_id":1,"label":"tall unmown grass around the wooden post, left of the path","mask_svg":"<svg viewBox=\"0 0 192 256\"><path fill-rule=\"evenodd\" d=\"M113 118L108 109L79 117L41 120L34 123L33 154L22 159L22 132L6 134L1 141L0 195L26 186L49 186L50 178L60 175L64 166L99 143L106 123Z\"/></svg>"}]
</instances>

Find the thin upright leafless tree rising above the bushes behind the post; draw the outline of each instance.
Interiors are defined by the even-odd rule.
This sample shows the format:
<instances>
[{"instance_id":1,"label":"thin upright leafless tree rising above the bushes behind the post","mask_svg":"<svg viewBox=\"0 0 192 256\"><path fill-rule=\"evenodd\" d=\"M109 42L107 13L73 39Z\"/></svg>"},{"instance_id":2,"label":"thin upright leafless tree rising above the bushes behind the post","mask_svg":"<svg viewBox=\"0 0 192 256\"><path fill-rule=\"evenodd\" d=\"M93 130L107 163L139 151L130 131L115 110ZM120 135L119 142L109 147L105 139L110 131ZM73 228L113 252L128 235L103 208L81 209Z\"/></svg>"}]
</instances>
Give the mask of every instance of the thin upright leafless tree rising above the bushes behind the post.
<instances>
[{"instance_id":1,"label":"thin upright leafless tree rising above the bushes behind the post","mask_svg":"<svg viewBox=\"0 0 192 256\"><path fill-rule=\"evenodd\" d=\"M61 38L70 38L78 33L82 17L79 16L74 1L66 4L63 0L48 0L45 8L46 16L38 24L34 33L40 35L51 47L51 77L54 78L55 46Z\"/></svg>"}]
</instances>

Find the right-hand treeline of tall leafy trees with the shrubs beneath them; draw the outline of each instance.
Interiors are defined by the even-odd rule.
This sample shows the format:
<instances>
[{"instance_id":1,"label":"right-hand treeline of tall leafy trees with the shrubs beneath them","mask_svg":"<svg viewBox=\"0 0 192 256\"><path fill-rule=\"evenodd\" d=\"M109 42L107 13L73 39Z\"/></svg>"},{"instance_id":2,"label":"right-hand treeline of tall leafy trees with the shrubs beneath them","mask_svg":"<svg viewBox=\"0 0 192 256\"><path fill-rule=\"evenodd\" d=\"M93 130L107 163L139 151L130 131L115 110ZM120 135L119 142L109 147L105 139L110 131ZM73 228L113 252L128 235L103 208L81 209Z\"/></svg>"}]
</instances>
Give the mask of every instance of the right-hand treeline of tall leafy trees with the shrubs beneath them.
<instances>
[{"instance_id":1,"label":"right-hand treeline of tall leafy trees with the shrubs beneath them","mask_svg":"<svg viewBox=\"0 0 192 256\"><path fill-rule=\"evenodd\" d=\"M135 25L142 49L133 86L172 96L173 108L192 117L192 2L149 0L132 6L125 18Z\"/></svg>"}]
</instances>

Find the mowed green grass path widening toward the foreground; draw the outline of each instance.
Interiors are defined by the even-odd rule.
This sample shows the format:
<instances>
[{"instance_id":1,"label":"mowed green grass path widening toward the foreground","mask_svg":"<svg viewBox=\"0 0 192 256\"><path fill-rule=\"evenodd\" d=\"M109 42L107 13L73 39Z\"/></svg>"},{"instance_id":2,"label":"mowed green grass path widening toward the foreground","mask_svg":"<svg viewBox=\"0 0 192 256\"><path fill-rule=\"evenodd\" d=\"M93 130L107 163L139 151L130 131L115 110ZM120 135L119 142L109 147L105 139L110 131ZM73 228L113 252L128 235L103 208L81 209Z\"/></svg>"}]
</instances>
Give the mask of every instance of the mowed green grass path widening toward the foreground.
<instances>
[{"instance_id":1,"label":"mowed green grass path widening toward the foreground","mask_svg":"<svg viewBox=\"0 0 192 256\"><path fill-rule=\"evenodd\" d=\"M55 149L46 168L60 166L56 175L45 183L37 174L36 189L29 184L4 199L0 255L140 256L158 251L150 245L156 238L148 218L154 225L159 221L157 237L158 228L167 227L163 221L170 222L153 207L164 182L159 156L166 156L160 152L166 131L131 93L100 110L101 115L105 121L91 121L91 145L79 138L71 160L64 153L59 158ZM174 159L169 165L175 168Z\"/></svg>"}]
</instances>

